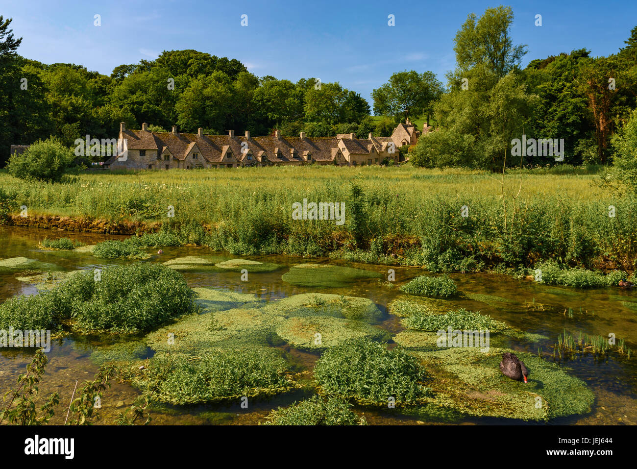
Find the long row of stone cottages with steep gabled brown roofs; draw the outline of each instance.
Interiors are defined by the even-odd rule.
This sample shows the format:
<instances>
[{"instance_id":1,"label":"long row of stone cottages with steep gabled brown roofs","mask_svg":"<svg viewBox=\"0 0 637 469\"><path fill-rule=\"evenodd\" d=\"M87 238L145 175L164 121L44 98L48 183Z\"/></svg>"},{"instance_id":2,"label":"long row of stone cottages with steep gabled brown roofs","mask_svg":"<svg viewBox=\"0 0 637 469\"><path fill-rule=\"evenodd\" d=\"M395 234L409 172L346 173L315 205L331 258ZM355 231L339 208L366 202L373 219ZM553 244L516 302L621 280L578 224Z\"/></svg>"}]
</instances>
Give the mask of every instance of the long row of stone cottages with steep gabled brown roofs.
<instances>
[{"instance_id":1,"label":"long row of stone cottages with steep gabled brown roofs","mask_svg":"<svg viewBox=\"0 0 637 469\"><path fill-rule=\"evenodd\" d=\"M336 137L309 138L304 132L297 137L205 135L151 132L144 123L141 130L127 130L120 124L118 145L125 152L110 157L104 167L115 169L169 170L172 168L237 168L240 166L334 164L359 166L381 164L385 158L399 161L398 148L412 145L419 136L413 125L399 124L391 137L357 138L356 134L337 134ZM408 141L408 143L403 143Z\"/></svg>"}]
</instances>

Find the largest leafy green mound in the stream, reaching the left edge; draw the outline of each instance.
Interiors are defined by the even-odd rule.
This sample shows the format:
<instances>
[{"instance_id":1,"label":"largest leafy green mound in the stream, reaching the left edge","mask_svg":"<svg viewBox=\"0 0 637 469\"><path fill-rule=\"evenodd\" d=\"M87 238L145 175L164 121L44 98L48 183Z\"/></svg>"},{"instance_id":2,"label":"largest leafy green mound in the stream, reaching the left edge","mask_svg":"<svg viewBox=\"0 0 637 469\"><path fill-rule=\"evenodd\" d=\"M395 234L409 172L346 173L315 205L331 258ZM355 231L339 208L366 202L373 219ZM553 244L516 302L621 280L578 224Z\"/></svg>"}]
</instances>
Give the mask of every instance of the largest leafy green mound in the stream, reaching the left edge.
<instances>
[{"instance_id":1,"label":"largest leafy green mound in the stream, reaching the left edge","mask_svg":"<svg viewBox=\"0 0 637 469\"><path fill-rule=\"evenodd\" d=\"M59 329L64 321L77 331L145 331L194 310L183 277L159 264L113 266L77 273L53 289L17 296L0 305L0 326Z\"/></svg>"}]
</instances>

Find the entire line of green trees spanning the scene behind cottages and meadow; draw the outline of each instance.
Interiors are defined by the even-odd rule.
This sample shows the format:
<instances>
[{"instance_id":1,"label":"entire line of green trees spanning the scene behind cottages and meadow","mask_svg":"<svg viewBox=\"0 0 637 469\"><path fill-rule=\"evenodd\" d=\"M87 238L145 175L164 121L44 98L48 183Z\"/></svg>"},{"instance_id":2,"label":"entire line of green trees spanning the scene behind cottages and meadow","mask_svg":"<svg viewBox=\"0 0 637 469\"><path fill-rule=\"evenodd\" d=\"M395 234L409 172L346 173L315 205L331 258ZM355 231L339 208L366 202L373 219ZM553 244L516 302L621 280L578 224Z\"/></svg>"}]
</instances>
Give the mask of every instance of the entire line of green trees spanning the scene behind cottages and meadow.
<instances>
[{"instance_id":1,"label":"entire line of green trees spanning the scene behind cottages and meadow","mask_svg":"<svg viewBox=\"0 0 637 469\"><path fill-rule=\"evenodd\" d=\"M512 140L522 135L563 139L570 164L620 157L630 141L622 129L637 101L637 27L617 54L591 57L582 48L522 68L526 46L513 43L512 21L505 6L481 17L471 13L455 36L457 66L447 73L447 86L431 71L394 73L372 92L379 116L373 119L368 102L340 83L259 77L236 59L196 50L164 51L154 61L117 66L110 76L75 64L42 64L17 54L21 39L0 16L0 165L12 143L112 138L119 122L129 128L148 122L157 131L203 127L210 134L280 129L311 137L389 136L407 117L429 123L431 116L435 131L420 138L410 156L416 166L554 164L552 155L513 154Z\"/></svg>"}]
</instances>

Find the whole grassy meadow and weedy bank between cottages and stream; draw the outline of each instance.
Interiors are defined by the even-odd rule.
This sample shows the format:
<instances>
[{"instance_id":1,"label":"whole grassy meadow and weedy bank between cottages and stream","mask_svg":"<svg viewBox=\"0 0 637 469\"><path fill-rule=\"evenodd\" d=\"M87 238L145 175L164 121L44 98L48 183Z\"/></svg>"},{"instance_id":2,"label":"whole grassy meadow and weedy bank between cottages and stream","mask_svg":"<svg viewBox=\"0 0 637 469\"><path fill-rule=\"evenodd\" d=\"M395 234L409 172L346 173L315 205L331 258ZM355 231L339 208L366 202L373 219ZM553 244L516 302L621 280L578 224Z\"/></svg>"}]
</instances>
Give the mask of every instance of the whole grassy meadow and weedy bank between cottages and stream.
<instances>
[{"instance_id":1,"label":"whole grassy meadow and weedy bank between cottages and stream","mask_svg":"<svg viewBox=\"0 0 637 469\"><path fill-rule=\"evenodd\" d=\"M634 199L603 191L590 169L555 172L512 171L502 184L478 171L309 166L104 172L56 185L0 173L0 204L14 215L25 205L30 216L159 222L183 242L233 254L331 254L432 271L517 269L556 259L632 271ZM292 203L303 199L344 202L344 224L292 219ZM608 216L610 205L615 217Z\"/></svg>"}]
</instances>

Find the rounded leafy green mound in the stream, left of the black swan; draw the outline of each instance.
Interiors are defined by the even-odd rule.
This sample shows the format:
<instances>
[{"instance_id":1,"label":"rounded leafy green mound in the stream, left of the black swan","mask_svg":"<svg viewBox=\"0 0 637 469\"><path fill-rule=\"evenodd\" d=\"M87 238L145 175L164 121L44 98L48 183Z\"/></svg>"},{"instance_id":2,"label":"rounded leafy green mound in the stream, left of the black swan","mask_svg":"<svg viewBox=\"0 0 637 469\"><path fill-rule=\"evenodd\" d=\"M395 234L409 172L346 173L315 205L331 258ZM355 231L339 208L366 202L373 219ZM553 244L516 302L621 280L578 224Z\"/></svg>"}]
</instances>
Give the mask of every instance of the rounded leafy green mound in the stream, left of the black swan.
<instances>
[{"instance_id":1,"label":"rounded leafy green mound in the stream, left of the black swan","mask_svg":"<svg viewBox=\"0 0 637 469\"><path fill-rule=\"evenodd\" d=\"M361 404L415 403L427 394L426 372L416 357L378 342L356 339L324 352L314 379L327 396L353 398Z\"/></svg>"}]
</instances>

